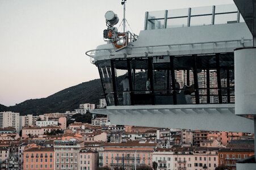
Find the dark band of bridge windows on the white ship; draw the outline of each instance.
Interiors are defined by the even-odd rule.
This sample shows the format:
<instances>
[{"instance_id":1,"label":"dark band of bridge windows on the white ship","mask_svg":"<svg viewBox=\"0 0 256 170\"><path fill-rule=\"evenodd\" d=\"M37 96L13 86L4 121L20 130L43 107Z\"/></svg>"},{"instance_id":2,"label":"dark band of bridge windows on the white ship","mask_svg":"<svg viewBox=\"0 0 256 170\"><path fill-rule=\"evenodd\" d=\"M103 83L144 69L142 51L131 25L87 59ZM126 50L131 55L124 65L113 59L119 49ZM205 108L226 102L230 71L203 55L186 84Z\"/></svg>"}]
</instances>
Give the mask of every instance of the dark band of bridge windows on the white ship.
<instances>
[{"instance_id":1,"label":"dark band of bridge windows on the white ship","mask_svg":"<svg viewBox=\"0 0 256 170\"><path fill-rule=\"evenodd\" d=\"M233 53L123 58L97 65L108 105L234 103Z\"/></svg>"}]
</instances>

